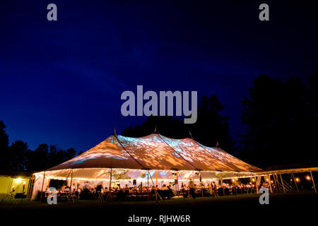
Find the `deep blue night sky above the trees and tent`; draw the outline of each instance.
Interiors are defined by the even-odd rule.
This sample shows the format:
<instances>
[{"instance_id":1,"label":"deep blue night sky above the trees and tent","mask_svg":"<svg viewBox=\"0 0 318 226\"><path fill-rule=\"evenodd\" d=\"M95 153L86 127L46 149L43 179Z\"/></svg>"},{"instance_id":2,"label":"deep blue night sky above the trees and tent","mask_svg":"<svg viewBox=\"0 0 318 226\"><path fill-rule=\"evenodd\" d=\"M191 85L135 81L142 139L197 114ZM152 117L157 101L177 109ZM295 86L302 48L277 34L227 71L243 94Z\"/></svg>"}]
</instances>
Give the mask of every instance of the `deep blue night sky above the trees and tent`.
<instances>
[{"instance_id":1,"label":"deep blue night sky above the trees and tent","mask_svg":"<svg viewBox=\"0 0 318 226\"><path fill-rule=\"evenodd\" d=\"M88 150L144 117L122 117L124 90L217 94L242 134L253 78L305 78L318 62L310 1L0 2L0 120L10 142ZM58 20L47 20L47 4ZM259 20L259 4L270 20ZM271 92L271 90L269 90Z\"/></svg>"}]
</instances>

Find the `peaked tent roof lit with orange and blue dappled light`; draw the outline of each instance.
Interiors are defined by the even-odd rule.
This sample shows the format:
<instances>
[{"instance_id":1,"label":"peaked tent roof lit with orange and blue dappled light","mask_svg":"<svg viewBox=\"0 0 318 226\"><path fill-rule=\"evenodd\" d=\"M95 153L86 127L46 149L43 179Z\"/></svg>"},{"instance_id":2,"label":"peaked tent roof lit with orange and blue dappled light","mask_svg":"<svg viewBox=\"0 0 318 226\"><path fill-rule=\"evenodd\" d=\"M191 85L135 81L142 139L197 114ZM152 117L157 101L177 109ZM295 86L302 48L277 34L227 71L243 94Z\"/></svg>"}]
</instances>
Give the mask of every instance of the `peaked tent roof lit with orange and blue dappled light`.
<instances>
[{"instance_id":1,"label":"peaked tent roof lit with orange and blue dappled light","mask_svg":"<svg viewBox=\"0 0 318 226\"><path fill-rule=\"evenodd\" d=\"M191 138L172 139L160 134L141 138L110 136L85 153L47 169L157 169L218 172L259 172L221 148L201 145Z\"/></svg>"}]
</instances>

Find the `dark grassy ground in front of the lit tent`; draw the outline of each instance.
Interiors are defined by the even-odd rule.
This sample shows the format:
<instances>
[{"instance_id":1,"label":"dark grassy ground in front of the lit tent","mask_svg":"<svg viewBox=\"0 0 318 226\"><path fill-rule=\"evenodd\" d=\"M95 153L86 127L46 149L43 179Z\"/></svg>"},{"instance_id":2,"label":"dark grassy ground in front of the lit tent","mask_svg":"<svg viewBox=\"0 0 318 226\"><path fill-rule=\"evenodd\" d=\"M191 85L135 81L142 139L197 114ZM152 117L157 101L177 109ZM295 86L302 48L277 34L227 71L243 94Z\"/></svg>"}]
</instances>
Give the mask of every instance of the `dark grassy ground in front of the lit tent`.
<instances>
[{"instance_id":1,"label":"dark grassy ground in front of the lit tent","mask_svg":"<svg viewBox=\"0 0 318 226\"><path fill-rule=\"evenodd\" d=\"M129 217L153 217L149 225L295 225L301 222L317 222L317 194L276 193L269 195L269 205L261 205L257 194L225 196L220 198L175 198L155 203L112 202L97 203L79 201L61 202L57 205L24 200L0 203L1 219L18 222L31 220L33 225L83 225L100 223L107 225L148 225L128 222ZM159 215L190 215L191 222L158 222Z\"/></svg>"}]
</instances>

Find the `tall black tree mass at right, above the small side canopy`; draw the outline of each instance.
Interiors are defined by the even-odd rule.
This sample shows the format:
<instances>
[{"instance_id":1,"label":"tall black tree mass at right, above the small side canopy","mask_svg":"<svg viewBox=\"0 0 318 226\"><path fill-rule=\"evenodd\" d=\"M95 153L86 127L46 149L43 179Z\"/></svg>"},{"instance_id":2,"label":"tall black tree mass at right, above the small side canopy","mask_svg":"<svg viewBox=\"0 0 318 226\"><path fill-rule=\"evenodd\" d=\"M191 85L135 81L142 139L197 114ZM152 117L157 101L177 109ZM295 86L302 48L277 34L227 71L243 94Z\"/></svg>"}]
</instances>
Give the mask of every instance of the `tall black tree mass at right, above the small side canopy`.
<instances>
[{"instance_id":1,"label":"tall black tree mass at right, above the small side canopy","mask_svg":"<svg viewBox=\"0 0 318 226\"><path fill-rule=\"evenodd\" d=\"M317 79L311 77L312 81ZM317 137L317 114L312 106L317 101L309 87L299 78L260 75L254 79L249 97L242 100L242 135L240 157L259 167L314 162L312 147ZM312 109L313 108L313 109Z\"/></svg>"}]
</instances>

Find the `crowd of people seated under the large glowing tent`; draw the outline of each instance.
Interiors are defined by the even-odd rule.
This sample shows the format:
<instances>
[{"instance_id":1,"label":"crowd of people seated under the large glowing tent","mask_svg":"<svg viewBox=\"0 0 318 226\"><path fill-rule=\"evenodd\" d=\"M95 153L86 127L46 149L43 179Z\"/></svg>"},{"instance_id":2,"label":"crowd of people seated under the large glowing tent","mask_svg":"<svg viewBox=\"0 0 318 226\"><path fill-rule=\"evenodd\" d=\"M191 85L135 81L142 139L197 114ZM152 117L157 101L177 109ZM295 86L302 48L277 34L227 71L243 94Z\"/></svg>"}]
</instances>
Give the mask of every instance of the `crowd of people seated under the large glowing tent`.
<instances>
[{"instance_id":1,"label":"crowd of people seated under the large glowing tent","mask_svg":"<svg viewBox=\"0 0 318 226\"><path fill-rule=\"evenodd\" d=\"M269 187L268 182L264 182L259 186ZM275 184L271 184L274 188ZM49 190L49 186L45 190L45 196L48 196L52 191ZM202 197L202 196L228 196L238 194L252 194L256 192L256 185L252 182L240 182L238 180L228 180L221 184L218 181L211 182L198 182L195 183L192 179L187 184L182 182L181 187L178 188L177 184L173 182L161 183L158 185L143 186L140 183L138 186L129 186L125 184L120 186L103 186L102 182L98 184L90 184L90 182L84 182L81 187L79 184L72 184L72 187L63 184L57 189L57 193L61 198L67 198L66 196L74 196L78 199L85 200L105 200L110 194L112 199L119 201L139 200L139 199L153 199L162 198L170 199L174 196L179 197Z\"/></svg>"}]
</instances>

